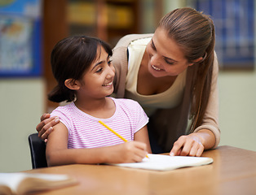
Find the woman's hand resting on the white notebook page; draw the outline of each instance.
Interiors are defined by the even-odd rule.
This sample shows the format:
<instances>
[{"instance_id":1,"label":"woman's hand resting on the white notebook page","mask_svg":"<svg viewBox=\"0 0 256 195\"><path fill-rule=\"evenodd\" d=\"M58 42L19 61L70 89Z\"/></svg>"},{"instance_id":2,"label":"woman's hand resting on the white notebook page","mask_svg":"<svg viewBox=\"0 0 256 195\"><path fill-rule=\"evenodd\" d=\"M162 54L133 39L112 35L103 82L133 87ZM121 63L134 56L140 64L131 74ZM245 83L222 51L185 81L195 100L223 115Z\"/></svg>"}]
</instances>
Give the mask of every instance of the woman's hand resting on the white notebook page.
<instances>
[{"instance_id":1,"label":"woman's hand resting on the white notebook page","mask_svg":"<svg viewBox=\"0 0 256 195\"><path fill-rule=\"evenodd\" d=\"M201 137L195 133L188 136L179 137L178 141L174 142L172 150L170 150L171 156L196 156L200 157L205 147L201 143Z\"/></svg>"}]
</instances>

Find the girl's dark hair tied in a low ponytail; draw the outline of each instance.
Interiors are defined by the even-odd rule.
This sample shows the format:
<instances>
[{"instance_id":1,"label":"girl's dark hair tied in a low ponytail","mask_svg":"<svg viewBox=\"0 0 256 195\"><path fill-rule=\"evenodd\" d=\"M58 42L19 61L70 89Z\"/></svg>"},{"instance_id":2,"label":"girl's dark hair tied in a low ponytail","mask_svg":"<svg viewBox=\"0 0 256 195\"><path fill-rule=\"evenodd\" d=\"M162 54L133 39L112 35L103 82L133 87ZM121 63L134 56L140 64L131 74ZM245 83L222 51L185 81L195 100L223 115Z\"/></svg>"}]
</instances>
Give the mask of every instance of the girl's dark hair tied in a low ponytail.
<instances>
[{"instance_id":1,"label":"girl's dark hair tied in a low ponytail","mask_svg":"<svg viewBox=\"0 0 256 195\"><path fill-rule=\"evenodd\" d=\"M96 60L98 47L102 46L112 56L111 47L95 37L73 36L59 41L51 52L51 70L58 85L48 94L52 102L72 102L75 91L68 89L68 79L82 80L82 76Z\"/></svg>"}]
</instances>

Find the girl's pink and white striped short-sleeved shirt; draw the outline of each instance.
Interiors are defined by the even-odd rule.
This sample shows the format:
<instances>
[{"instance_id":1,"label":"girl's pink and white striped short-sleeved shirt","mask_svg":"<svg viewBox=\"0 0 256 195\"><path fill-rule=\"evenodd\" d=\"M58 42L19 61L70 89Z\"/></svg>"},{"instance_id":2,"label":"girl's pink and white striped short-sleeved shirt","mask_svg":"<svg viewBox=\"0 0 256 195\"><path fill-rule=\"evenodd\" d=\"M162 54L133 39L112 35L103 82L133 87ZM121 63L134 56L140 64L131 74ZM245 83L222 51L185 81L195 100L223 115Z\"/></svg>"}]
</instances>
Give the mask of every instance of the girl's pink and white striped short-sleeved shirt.
<instances>
[{"instance_id":1,"label":"girl's pink and white striped short-sleeved shirt","mask_svg":"<svg viewBox=\"0 0 256 195\"><path fill-rule=\"evenodd\" d=\"M113 128L127 141L134 140L135 132L148 124L148 116L138 102L130 99L112 98L116 105L114 115L108 119L99 119L79 110L72 102L59 106L51 115L57 115L68 128L68 148L96 148L121 144L122 141L110 132L99 120Z\"/></svg>"}]
</instances>

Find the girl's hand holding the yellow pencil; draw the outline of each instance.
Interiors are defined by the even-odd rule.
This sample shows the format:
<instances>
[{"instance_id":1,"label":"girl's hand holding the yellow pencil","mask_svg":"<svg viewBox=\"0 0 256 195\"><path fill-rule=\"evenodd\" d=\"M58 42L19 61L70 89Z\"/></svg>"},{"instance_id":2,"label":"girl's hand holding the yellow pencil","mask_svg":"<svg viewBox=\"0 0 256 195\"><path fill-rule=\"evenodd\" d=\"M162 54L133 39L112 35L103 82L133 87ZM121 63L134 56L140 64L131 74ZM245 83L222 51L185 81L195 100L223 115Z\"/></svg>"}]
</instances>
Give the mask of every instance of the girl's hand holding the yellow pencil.
<instances>
[{"instance_id":1,"label":"girl's hand holding the yellow pencil","mask_svg":"<svg viewBox=\"0 0 256 195\"><path fill-rule=\"evenodd\" d=\"M109 146L106 163L141 162L148 154L147 145L139 141L129 141L120 145Z\"/></svg>"}]
</instances>

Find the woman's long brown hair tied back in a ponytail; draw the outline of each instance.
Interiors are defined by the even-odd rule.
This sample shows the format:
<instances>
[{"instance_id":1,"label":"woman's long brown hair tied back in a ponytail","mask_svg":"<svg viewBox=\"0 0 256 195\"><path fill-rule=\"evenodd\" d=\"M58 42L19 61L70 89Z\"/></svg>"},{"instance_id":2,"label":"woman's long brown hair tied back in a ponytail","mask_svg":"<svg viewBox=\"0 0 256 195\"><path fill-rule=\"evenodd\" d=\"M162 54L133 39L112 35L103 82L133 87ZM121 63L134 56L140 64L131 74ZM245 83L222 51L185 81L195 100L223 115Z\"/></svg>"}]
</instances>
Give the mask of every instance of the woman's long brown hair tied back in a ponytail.
<instances>
[{"instance_id":1,"label":"woman's long brown hair tied back in a ponytail","mask_svg":"<svg viewBox=\"0 0 256 195\"><path fill-rule=\"evenodd\" d=\"M200 126L205 115L210 96L214 64L215 30L214 23L208 15L204 15L192 8L185 7L171 11L165 15L160 28L166 29L168 37L174 39L188 59L193 63L203 57L197 66L196 76L192 80L192 108L190 117L192 126L190 131Z\"/></svg>"}]
</instances>

